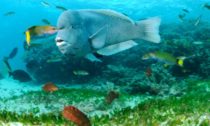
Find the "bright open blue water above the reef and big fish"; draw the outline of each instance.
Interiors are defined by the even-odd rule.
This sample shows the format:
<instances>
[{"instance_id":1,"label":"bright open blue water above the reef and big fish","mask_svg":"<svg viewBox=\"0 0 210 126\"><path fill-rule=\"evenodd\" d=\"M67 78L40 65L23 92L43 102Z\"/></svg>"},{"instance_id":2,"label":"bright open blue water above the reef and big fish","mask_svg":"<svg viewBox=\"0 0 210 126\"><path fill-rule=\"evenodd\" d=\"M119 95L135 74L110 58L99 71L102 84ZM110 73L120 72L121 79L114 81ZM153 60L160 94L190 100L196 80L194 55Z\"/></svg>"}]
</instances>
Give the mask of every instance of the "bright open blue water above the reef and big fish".
<instances>
[{"instance_id":1,"label":"bright open blue water above the reef and big fish","mask_svg":"<svg viewBox=\"0 0 210 126\"><path fill-rule=\"evenodd\" d=\"M8 55L14 48L19 47L19 53L15 63L16 68L23 68L21 60L23 49L22 43L25 39L23 32L32 25L42 25L41 19L48 19L51 24L56 25L57 18L62 13L55 5L68 9L113 9L129 15L133 19L142 19L152 16L160 16L162 23L180 22L177 15L181 9L190 11L187 18L196 18L203 14L202 20L209 21L209 10L201 6L209 0L44 0L50 4L49 7L41 4L43 0L1 0L0 1L0 59ZM15 11L15 15L4 16L8 11Z\"/></svg>"}]
</instances>

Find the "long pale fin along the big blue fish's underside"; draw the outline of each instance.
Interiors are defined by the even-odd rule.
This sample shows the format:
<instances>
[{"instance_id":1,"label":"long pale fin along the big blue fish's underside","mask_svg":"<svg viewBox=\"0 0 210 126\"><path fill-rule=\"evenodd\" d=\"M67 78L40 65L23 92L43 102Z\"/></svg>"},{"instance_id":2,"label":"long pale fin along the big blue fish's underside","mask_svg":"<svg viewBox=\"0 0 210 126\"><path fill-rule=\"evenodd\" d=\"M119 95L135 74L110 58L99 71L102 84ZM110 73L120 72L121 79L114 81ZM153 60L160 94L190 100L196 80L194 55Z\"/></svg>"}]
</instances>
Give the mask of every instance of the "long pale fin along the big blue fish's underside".
<instances>
[{"instance_id":1,"label":"long pale fin along the big blue fish's underside","mask_svg":"<svg viewBox=\"0 0 210 126\"><path fill-rule=\"evenodd\" d=\"M114 45L110 45L105 48L99 49L97 53L104 56L110 56L110 55L125 51L127 49L130 49L136 45L138 45L136 42L134 42L133 40L129 40L129 41L121 42L119 44L114 44Z\"/></svg>"}]
</instances>

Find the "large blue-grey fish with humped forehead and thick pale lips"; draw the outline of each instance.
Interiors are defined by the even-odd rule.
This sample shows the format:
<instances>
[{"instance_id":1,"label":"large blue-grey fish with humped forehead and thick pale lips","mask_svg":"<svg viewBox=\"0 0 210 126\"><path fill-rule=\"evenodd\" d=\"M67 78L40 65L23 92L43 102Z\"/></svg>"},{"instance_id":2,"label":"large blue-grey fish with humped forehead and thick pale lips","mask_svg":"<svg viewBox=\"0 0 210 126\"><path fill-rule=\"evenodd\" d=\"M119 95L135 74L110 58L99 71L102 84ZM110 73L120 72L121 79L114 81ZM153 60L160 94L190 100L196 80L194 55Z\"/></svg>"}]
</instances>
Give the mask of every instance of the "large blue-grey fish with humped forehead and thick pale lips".
<instances>
[{"instance_id":1,"label":"large blue-grey fish with humped forehead and thick pale lips","mask_svg":"<svg viewBox=\"0 0 210 126\"><path fill-rule=\"evenodd\" d=\"M58 19L56 45L61 53L100 61L138 45L139 40L159 43L158 17L133 21L112 10L68 10Z\"/></svg>"}]
</instances>

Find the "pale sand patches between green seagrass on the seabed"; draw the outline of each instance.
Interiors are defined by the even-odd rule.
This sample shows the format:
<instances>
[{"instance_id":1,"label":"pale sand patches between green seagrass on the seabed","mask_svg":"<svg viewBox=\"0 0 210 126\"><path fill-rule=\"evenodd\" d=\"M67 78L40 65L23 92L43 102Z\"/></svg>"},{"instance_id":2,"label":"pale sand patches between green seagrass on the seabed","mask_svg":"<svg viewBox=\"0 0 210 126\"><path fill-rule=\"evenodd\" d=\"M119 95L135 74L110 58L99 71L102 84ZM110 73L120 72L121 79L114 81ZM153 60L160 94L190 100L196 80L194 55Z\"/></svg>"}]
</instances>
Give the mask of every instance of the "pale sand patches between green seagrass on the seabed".
<instances>
[{"instance_id":1,"label":"pale sand patches between green seagrass on the seabed","mask_svg":"<svg viewBox=\"0 0 210 126\"><path fill-rule=\"evenodd\" d=\"M74 89L92 89L92 90L109 90L109 86L103 86L103 85L91 85L91 84L56 84L59 88L74 88ZM0 80L0 98L9 101L0 101L0 110L6 109L8 111L13 111L17 113L22 112L33 112L34 109L39 109L40 112L37 113L37 115L42 113L49 113L49 112L56 112L60 111L64 105L66 105L68 102L65 99L58 99L58 103L53 103L50 105L50 107L47 107L46 104L40 103L40 104L34 104L30 102L30 100L24 100L21 98L18 98L16 100L10 100L13 96L20 96L30 91L39 91L42 90L42 84L35 84L35 83L19 83L18 81L15 81L11 78L2 79ZM103 99L101 97L93 97L89 98L84 101L80 102L73 102L72 105L78 107L80 110L82 110L85 113L88 113L89 116L101 116L101 115L112 115L114 110L120 110L122 108L126 107L135 107L137 104L151 98L150 96L132 96L130 98L124 99L124 101L116 100L112 103L112 105L103 107ZM101 102L98 102L101 101ZM102 110L100 109L102 106ZM104 108L104 109L103 109Z\"/></svg>"}]
</instances>

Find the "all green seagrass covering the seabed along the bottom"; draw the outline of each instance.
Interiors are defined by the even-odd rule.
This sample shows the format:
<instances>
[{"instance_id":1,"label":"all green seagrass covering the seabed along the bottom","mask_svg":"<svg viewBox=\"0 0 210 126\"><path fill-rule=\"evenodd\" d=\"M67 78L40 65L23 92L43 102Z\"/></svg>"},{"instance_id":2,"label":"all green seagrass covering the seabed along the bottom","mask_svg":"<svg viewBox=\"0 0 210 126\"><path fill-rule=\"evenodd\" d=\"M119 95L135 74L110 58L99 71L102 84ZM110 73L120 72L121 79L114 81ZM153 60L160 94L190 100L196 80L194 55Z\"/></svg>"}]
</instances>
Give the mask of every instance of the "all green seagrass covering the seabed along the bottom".
<instances>
[{"instance_id":1,"label":"all green seagrass covering the seabed along the bottom","mask_svg":"<svg viewBox=\"0 0 210 126\"><path fill-rule=\"evenodd\" d=\"M101 117L90 117L94 125L202 125L207 126L210 123L210 80L188 81L186 94L180 97L171 96L167 98L156 98L146 100L134 108L124 108L121 111L114 111L112 116L104 115ZM102 97L105 94L93 92L91 90L69 89L61 90L66 97L73 97L75 100L89 98L94 96ZM84 92L83 92L84 91ZM60 93L61 93L60 92ZM83 93L82 93L83 92ZM73 95L77 93L77 95ZM31 92L28 95L46 95L44 92ZM70 95L71 94L71 95ZM59 92L54 94L59 97ZM65 96L65 95L61 95ZM77 97L80 97L77 99ZM125 100L128 95L123 95L119 100ZM13 98L16 99L16 98ZM22 122L33 125L74 125L64 119L61 112L47 113L35 116L33 113L17 114L6 110L0 111L0 120L4 122Z\"/></svg>"}]
</instances>

